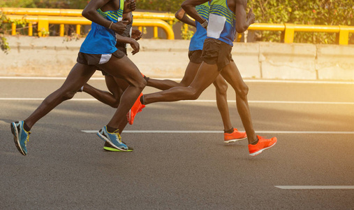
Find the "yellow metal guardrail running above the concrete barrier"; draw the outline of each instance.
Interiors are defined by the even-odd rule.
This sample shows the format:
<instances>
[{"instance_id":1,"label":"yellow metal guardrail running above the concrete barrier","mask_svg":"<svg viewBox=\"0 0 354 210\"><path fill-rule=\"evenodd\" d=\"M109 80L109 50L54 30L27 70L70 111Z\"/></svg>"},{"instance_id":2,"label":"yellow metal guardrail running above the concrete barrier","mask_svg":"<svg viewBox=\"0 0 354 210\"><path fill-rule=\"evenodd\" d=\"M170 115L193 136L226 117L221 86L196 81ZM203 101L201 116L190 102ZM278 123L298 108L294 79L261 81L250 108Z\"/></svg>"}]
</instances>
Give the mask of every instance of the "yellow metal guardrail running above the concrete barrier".
<instances>
[{"instance_id":1,"label":"yellow metal guardrail running above the concrete barrier","mask_svg":"<svg viewBox=\"0 0 354 210\"><path fill-rule=\"evenodd\" d=\"M0 8L10 20L21 20L26 15L25 19L29 21L29 36L31 36L31 22L38 22L38 34L41 36L41 30L47 30L47 25L59 24L60 35L64 36L64 24L77 25L77 34L80 34L80 25L89 25L91 22L82 18L82 10L75 9L50 9L50 8ZM22 15L22 16L21 16ZM36 15L36 16L35 16ZM169 21L170 24L175 20L175 15L171 13L145 13L133 12L133 25L139 27L154 27L154 37L157 37L157 27L163 28L168 34L168 39L173 39L174 34L170 25L164 21ZM38 18L35 18L38 17ZM36 19L36 20L35 20ZM144 21L143 21L144 20ZM16 26L13 25L13 34L15 34ZM249 30L259 31L281 31L282 40L284 43L293 43L295 32L326 32L336 33L337 42L340 45L348 45L349 34L354 33L353 26L329 26L329 25L293 25L293 24L267 24L256 23L249 27ZM30 33L31 31L31 33Z\"/></svg>"}]
</instances>

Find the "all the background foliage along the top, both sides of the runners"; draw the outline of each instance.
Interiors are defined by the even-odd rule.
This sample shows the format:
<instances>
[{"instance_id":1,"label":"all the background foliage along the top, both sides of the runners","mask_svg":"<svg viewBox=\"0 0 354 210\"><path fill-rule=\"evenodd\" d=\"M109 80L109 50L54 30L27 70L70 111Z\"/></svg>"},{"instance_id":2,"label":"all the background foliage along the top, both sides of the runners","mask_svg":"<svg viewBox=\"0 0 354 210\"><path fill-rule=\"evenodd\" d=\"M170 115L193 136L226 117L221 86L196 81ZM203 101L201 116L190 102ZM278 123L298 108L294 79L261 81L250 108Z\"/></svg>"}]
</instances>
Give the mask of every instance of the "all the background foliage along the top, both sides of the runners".
<instances>
[{"instance_id":1,"label":"all the background foliage along the top, both sides of the runners","mask_svg":"<svg viewBox=\"0 0 354 210\"><path fill-rule=\"evenodd\" d=\"M139 10L175 13L184 0L137 0ZM7 0L0 7L84 8L89 0ZM353 0L248 0L257 22L303 25L353 25ZM280 32L259 31L259 41L280 41ZM295 42L334 43L335 34L295 33Z\"/></svg>"}]
</instances>

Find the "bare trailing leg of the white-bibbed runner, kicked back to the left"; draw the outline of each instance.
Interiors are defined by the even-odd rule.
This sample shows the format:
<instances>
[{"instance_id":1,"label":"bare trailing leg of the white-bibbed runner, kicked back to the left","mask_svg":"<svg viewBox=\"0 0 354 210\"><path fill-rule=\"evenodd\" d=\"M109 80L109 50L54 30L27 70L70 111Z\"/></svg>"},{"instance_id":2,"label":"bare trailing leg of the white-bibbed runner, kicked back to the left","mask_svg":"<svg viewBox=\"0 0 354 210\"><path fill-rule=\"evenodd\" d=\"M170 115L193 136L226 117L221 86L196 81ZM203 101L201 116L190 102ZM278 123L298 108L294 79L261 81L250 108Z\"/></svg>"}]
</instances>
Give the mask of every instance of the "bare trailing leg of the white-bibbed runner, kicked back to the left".
<instances>
[{"instance_id":1,"label":"bare trailing leg of the white-bibbed runner, kicked back to the left","mask_svg":"<svg viewBox=\"0 0 354 210\"><path fill-rule=\"evenodd\" d=\"M172 87L168 90L145 94L145 104L155 102L176 102L179 100L195 100L200 94L211 85L215 78L219 75L216 64L207 64L202 62L196 78L189 87Z\"/></svg>"}]
</instances>

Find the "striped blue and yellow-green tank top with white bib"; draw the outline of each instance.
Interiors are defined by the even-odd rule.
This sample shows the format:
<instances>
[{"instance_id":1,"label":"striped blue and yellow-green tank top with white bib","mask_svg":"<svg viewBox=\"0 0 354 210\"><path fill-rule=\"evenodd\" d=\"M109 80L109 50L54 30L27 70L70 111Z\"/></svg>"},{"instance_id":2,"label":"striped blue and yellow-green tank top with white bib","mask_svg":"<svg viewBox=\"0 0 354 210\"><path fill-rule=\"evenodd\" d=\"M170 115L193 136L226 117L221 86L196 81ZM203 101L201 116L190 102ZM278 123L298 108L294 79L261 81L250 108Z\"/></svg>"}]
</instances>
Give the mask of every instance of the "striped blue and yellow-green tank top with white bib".
<instances>
[{"instance_id":1,"label":"striped blue and yellow-green tank top with white bib","mask_svg":"<svg viewBox=\"0 0 354 210\"><path fill-rule=\"evenodd\" d=\"M216 38L233 46L236 16L228 8L228 0L212 0L209 10L207 38Z\"/></svg>"}]
</instances>

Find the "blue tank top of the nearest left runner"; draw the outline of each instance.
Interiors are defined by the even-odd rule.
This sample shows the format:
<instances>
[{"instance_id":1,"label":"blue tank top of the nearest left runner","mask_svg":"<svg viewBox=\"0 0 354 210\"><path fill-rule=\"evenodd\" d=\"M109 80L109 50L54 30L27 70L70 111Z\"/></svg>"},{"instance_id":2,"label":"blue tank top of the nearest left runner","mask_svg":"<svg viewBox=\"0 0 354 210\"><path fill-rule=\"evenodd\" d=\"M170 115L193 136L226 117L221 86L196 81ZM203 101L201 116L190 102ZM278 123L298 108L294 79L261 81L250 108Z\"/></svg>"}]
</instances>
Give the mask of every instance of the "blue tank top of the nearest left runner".
<instances>
[{"instance_id":1,"label":"blue tank top of the nearest left runner","mask_svg":"<svg viewBox=\"0 0 354 210\"><path fill-rule=\"evenodd\" d=\"M100 8L97 12L107 20L118 22L123 17L123 8L124 0L120 0L119 10L103 12ZM116 43L115 31L92 22L91 31L89 31L89 34L84 39L80 52L88 54L111 54L117 51L115 47Z\"/></svg>"}]
</instances>

